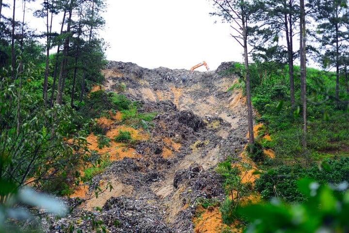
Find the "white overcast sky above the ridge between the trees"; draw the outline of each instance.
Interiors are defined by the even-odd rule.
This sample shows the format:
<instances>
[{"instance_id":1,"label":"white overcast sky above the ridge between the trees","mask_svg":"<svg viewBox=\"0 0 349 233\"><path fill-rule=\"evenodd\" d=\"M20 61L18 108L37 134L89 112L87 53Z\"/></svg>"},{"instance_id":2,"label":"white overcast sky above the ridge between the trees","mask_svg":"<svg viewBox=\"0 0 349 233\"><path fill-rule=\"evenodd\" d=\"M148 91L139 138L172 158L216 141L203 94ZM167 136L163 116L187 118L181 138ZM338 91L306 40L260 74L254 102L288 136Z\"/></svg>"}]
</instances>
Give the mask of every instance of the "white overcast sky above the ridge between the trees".
<instances>
[{"instance_id":1,"label":"white overcast sky above the ridge between the trees","mask_svg":"<svg viewBox=\"0 0 349 233\"><path fill-rule=\"evenodd\" d=\"M208 0L107 0L107 59L141 67L185 68L206 61L242 62L242 48L228 24L209 16ZM217 23L214 21L217 20ZM198 70L205 70L204 67Z\"/></svg>"}]
</instances>

